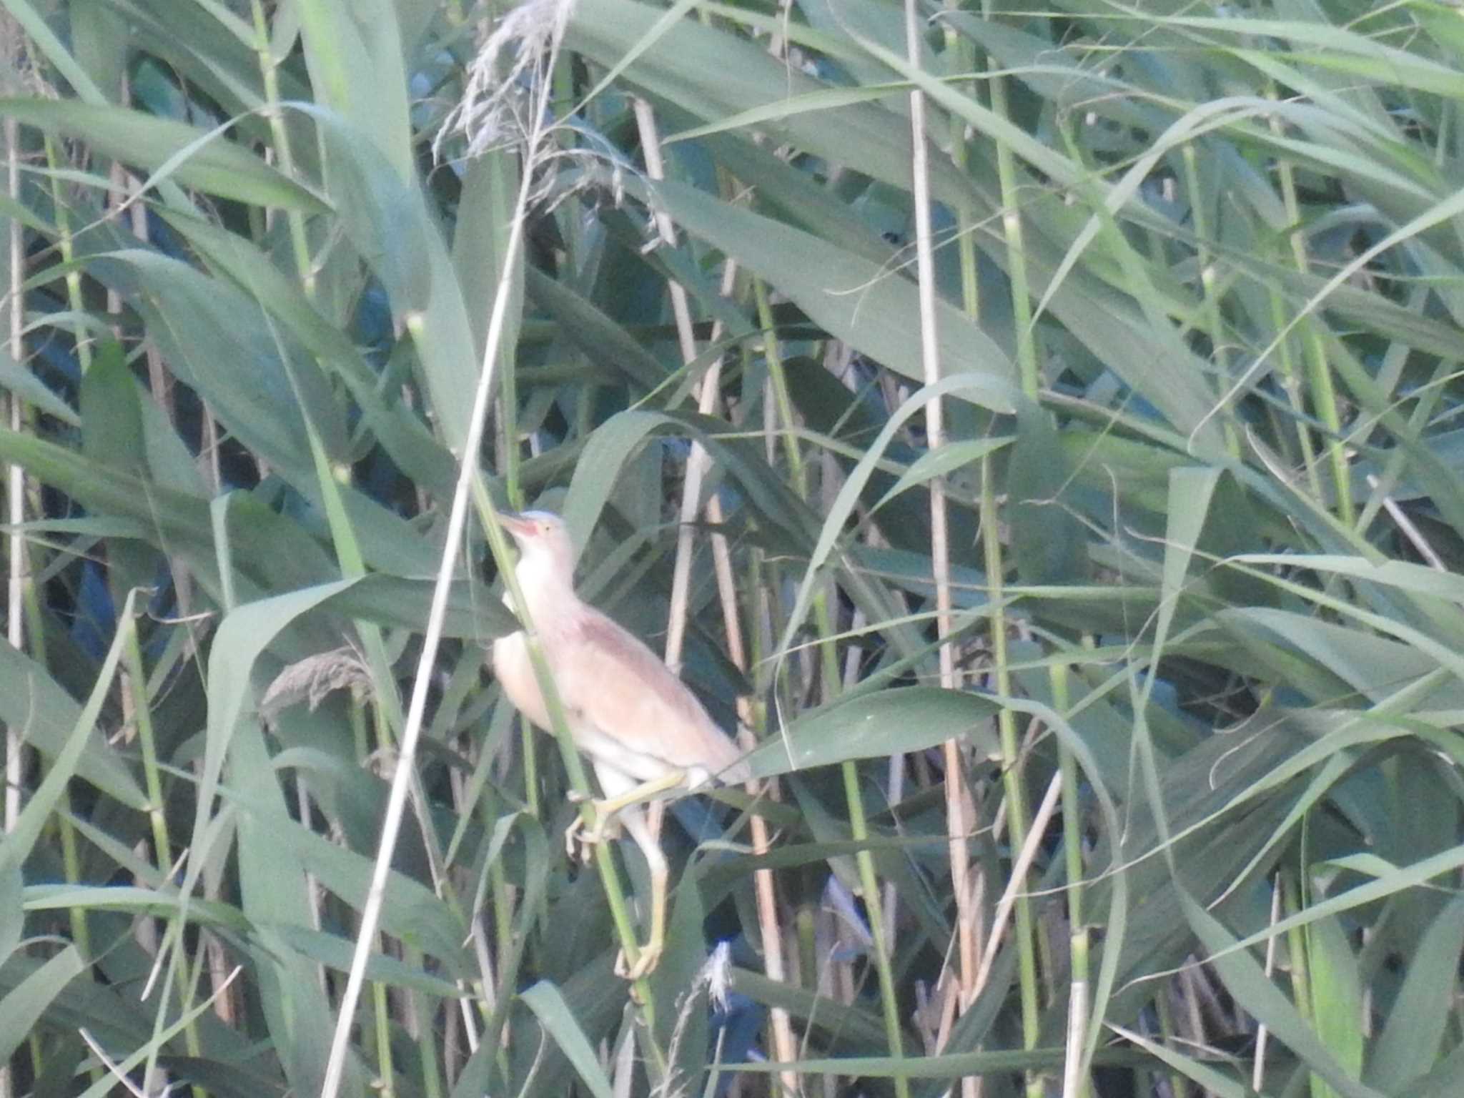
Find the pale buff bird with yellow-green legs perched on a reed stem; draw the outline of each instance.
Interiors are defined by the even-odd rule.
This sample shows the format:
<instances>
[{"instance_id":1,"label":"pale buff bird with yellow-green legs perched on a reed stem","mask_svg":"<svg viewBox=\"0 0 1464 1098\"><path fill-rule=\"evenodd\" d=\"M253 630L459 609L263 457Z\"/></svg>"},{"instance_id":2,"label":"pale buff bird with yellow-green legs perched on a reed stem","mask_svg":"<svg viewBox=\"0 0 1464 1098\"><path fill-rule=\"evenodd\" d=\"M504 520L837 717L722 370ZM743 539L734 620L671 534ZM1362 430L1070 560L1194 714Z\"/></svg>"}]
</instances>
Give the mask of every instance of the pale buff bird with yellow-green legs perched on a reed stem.
<instances>
[{"instance_id":1,"label":"pale buff bird with yellow-green legs perched on a reed stem","mask_svg":"<svg viewBox=\"0 0 1464 1098\"><path fill-rule=\"evenodd\" d=\"M565 521L549 511L499 514L518 549L514 575L545 663L553 678L574 745L590 758L600 799L594 821L565 832L574 856L619 823L650 867L650 937L634 965L624 952L615 971L627 979L651 972L666 938L666 855L641 808L712 782L748 782L752 772L736 742L712 719L695 694L644 641L590 606L574 590L574 542ZM504 602L514 610L511 593ZM529 656L523 630L493 641L493 673L504 694L531 725L552 732L549 709Z\"/></svg>"}]
</instances>

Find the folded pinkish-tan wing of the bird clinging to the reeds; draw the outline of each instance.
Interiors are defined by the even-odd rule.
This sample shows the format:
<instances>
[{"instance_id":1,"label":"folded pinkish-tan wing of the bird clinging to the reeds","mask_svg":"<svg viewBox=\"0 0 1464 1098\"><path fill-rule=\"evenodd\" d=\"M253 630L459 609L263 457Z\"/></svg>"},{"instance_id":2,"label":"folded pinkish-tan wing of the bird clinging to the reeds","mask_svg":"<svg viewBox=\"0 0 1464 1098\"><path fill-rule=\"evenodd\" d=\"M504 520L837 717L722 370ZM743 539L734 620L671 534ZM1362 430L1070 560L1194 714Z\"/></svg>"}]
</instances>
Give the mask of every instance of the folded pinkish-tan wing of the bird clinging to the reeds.
<instances>
[{"instance_id":1,"label":"folded pinkish-tan wing of the bird clinging to the reeds","mask_svg":"<svg viewBox=\"0 0 1464 1098\"><path fill-rule=\"evenodd\" d=\"M593 606L555 632L549 643L565 706L631 751L742 780L736 744L638 637Z\"/></svg>"}]
</instances>

